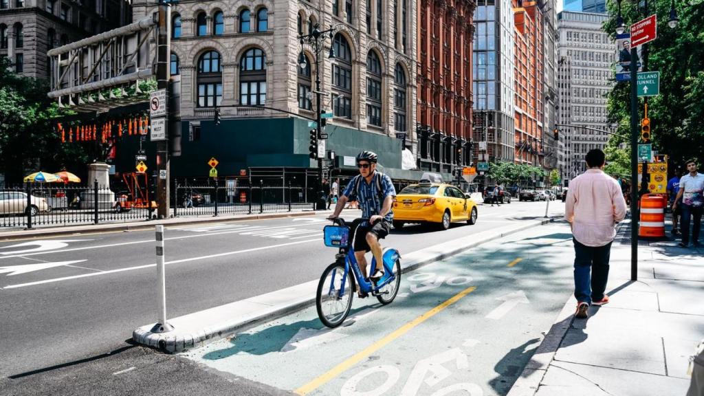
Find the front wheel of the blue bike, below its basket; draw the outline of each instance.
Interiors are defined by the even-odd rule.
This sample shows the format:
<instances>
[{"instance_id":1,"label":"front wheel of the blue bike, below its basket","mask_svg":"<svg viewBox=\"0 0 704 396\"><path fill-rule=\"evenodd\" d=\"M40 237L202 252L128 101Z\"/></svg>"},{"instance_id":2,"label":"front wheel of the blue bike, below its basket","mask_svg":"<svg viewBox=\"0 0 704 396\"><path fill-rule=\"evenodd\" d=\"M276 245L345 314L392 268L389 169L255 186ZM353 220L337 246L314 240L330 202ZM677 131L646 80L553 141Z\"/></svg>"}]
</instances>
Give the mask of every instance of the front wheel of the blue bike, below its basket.
<instances>
[{"instance_id":1,"label":"front wheel of the blue bike, below its basket","mask_svg":"<svg viewBox=\"0 0 704 396\"><path fill-rule=\"evenodd\" d=\"M340 326L352 307L354 284L344 263L330 264L320 277L315 308L322 324L329 328Z\"/></svg>"}]
</instances>

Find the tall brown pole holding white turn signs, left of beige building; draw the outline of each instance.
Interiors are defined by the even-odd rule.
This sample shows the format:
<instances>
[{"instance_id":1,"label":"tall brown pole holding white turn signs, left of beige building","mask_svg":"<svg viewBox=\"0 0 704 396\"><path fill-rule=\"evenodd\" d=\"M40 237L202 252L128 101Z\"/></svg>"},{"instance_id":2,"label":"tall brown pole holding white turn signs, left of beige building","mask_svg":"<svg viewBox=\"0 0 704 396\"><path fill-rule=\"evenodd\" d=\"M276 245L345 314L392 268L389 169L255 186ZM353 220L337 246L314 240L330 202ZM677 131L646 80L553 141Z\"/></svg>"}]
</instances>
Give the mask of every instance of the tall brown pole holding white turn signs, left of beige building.
<instances>
[{"instance_id":1,"label":"tall brown pole holding white turn signs, left of beige building","mask_svg":"<svg viewBox=\"0 0 704 396\"><path fill-rule=\"evenodd\" d=\"M158 89L166 89L166 98L170 97L169 88L169 58L170 58L170 25L171 6L161 2L158 11L158 37L156 47L156 83ZM156 142L156 169L158 177L156 179L156 204L158 218L168 218L169 216L169 133L168 111L165 115L164 128L166 132L165 140ZM162 174L165 172L165 176Z\"/></svg>"}]
</instances>

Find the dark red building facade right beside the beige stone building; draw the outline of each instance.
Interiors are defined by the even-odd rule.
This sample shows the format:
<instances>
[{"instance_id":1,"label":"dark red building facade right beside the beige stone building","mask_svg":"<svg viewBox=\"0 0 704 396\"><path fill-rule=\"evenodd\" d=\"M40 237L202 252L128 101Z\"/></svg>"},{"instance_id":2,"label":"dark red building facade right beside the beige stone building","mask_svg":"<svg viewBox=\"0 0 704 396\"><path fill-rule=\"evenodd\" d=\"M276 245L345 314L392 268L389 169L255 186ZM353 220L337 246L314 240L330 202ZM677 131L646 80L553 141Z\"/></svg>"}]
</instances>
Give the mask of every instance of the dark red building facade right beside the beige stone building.
<instances>
[{"instance_id":1,"label":"dark red building facade right beside the beige stone building","mask_svg":"<svg viewBox=\"0 0 704 396\"><path fill-rule=\"evenodd\" d=\"M377 0L378 1L378 0ZM450 173L472 162L475 0L420 0L417 9L418 168ZM415 40L414 40L415 41Z\"/></svg>"}]
</instances>

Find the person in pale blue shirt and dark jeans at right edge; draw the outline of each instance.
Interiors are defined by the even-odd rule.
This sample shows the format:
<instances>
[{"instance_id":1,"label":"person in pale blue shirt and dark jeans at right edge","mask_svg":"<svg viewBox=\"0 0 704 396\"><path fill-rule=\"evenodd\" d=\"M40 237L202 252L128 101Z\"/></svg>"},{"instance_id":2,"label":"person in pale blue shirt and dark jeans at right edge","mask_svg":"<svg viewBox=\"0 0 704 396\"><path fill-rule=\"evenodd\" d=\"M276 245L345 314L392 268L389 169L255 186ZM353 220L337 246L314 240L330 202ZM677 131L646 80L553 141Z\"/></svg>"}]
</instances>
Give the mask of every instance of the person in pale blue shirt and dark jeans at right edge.
<instances>
[{"instance_id":1,"label":"person in pale blue shirt and dark jeans at right edge","mask_svg":"<svg viewBox=\"0 0 704 396\"><path fill-rule=\"evenodd\" d=\"M679 207L679 199L682 199L682 219L680 225L682 242L679 242L679 246L687 247L689 245L689 221L690 217L693 217L692 241L695 247L700 247L699 228L701 227L702 207L704 206L704 197L702 196L704 190L704 175L697 173L697 163L693 160L686 162L686 168L689 173L679 179L679 192L677 192L677 198L674 199L672 211L675 211L677 207Z\"/></svg>"}]
</instances>

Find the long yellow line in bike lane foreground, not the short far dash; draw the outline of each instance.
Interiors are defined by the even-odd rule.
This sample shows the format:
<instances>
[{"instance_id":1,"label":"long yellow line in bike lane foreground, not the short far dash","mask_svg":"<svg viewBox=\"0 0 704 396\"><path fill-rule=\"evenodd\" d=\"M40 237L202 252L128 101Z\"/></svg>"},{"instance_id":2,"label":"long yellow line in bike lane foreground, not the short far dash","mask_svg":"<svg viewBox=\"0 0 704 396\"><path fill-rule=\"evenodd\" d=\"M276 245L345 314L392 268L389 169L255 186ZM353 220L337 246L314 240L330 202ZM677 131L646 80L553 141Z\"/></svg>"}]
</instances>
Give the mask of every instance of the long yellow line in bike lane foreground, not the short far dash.
<instances>
[{"instance_id":1,"label":"long yellow line in bike lane foreground, not the short far dash","mask_svg":"<svg viewBox=\"0 0 704 396\"><path fill-rule=\"evenodd\" d=\"M408 330L413 329L415 326L420 325L420 323L425 322L427 319L431 318L435 314L438 314L439 312L451 306L455 302L458 302L462 297L465 297L466 295L470 294L476 288L476 286L467 287L465 290L457 293L453 297L450 297L437 307L431 309L430 311L427 311L425 314L422 314L421 316L418 316L417 318L413 319L413 321L410 321L405 325L401 326L400 328L396 329L394 333L386 335L386 337L366 347L363 351L357 352L352 357L348 358L346 361L343 361L330 371L327 371L327 373L322 374L322 376L319 376L318 378L315 378L306 385L301 386L301 388L294 390L294 393L298 395L307 395L308 393L313 392L313 390L320 388L320 386L324 385L329 380L332 380L332 378L339 376L341 373L344 373L344 371L349 369L351 366L358 364L362 359L365 359L370 354L381 349L389 342L396 340L396 338L401 337L401 335L408 333Z\"/></svg>"}]
</instances>

